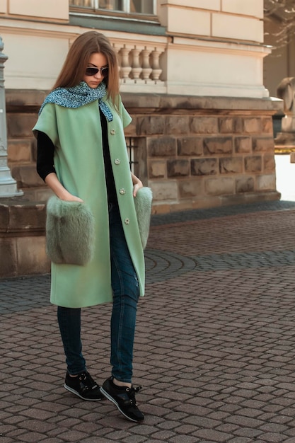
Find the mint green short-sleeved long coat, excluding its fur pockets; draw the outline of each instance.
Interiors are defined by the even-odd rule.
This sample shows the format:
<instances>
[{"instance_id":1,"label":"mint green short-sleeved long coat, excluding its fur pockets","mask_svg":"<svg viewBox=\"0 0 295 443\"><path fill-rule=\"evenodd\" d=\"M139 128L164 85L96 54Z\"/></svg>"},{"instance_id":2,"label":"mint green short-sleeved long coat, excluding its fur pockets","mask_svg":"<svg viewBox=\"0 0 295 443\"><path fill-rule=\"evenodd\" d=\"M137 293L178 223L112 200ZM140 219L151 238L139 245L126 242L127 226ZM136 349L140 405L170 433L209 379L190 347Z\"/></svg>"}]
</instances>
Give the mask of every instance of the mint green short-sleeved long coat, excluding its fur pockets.
<instances>
[{"instance_id":1,"label":"mint green short-sleeved long coat, excluding its fur pockets","mask_svg":"<svg viewBox=\"0 0 295 443\"><path fill-rule=\"evenodd\" d=\"M122 226L127 246L137 272L140 295L144 295L144 251L141 246L134 209L133 185L129 168L124 127L131 117L120 99L119 113L112 110L108 122L110 159L115 178ZM96 240L93 259L84 266L52 263L52 304L82 308L112 301L110 280L110 245L108 198L103 163L103 143L98 100L80 108L64 108L47 103L35 127L52 140L54 166L59 181L73 195L81 197L91 208L95 219Z\"/></svg>"}]
</instances>

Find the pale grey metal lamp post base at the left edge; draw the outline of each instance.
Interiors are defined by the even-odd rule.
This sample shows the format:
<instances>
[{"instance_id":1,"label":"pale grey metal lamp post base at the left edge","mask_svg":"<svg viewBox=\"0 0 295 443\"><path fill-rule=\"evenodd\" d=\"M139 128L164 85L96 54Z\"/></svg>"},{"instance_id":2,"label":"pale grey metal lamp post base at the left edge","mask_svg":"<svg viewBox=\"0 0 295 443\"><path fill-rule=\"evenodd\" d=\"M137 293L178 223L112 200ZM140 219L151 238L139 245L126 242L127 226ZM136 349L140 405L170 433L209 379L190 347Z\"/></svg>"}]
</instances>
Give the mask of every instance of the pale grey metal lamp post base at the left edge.
<instances>
[{"instance_id":1,"label":"pale grey metal lamp post base at the left edge","mask_svg":"<svg viewBox=\"0 0 295 443\"><path fill-rule=\"evenodd\" d=\"M7 166L4 62L6 62L8 57L2 53L3 49L4 44L0 37L0 198L23 195L23 191L17 189L16 180L11 177L10 169Z\"/></svg>"}]
</instances>

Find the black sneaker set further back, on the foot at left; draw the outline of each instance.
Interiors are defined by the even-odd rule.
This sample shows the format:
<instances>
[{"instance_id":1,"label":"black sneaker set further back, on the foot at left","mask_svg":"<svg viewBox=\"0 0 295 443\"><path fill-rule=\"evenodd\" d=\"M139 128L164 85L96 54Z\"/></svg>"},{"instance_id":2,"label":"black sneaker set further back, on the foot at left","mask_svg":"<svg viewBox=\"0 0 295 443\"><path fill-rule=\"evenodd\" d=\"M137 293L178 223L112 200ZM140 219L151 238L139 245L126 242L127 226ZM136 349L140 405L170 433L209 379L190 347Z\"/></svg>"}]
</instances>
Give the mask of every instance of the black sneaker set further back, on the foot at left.
<instances>
[{"instance_id":1,"label":"black sneaker set further back, on the foot at left","mask_svg":"<svg viewBox=\"0 0 295 443\"><path fill-rule=\"evenodd\" d=\"M87 371L81 372L76 377L71 377L66 372L64 387L71 393L74 393L75 396L83 398L83 400L98 401L104 398L100 392L100 387Z\"/></svg>"}]
</instances>

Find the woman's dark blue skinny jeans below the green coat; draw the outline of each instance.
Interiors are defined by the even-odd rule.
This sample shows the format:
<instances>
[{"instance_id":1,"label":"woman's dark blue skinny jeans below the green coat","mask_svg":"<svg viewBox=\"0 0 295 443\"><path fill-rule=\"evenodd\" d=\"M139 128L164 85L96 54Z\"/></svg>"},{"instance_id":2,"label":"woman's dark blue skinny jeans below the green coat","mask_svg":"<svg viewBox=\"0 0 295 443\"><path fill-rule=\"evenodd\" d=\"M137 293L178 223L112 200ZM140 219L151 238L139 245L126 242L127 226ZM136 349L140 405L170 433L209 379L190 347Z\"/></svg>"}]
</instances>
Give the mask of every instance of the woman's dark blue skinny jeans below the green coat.
<instances>
[{"instance_id":1,"label":"woman's dark blue skinny jeans below the green coat","mask_svg":"<svg viewBox=\"0 0 295 443\"><path fill-rule=\"evenodd\" d=\"M109 224L113 292L110 364L112 375L117 380L131 383L139 284L117 205L109 205ZM71 375L79 374L86 369L81 343L81 309L58 306L57 318L68 372Z\"/></svg>"}]
</instances>

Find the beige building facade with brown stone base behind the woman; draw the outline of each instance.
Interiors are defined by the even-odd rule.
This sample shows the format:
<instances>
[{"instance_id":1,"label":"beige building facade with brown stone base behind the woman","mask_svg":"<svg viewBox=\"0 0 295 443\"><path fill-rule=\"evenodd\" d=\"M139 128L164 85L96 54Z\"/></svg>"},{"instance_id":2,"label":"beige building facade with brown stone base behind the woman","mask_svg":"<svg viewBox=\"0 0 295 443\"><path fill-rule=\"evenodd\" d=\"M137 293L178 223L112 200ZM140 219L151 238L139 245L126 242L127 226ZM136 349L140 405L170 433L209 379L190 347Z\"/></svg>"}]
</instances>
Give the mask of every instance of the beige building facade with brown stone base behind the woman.
<instances>
[{"instance_id":1,"label":"beige building facade with brown stone base behind the woman","mask_svg":"<svg viewBox=\"0 0 295 443\"><path fill-rule=\"evenodd\" d=\"M37 110L71 42L96 29L117 50L127 146L154 213L278 199L282 103L263 84L262 19L263 0L0 0L8 164L25 197L48 197L35 173Z\"/></svg>"}]
</instances>

